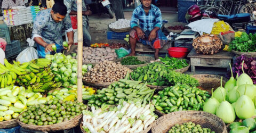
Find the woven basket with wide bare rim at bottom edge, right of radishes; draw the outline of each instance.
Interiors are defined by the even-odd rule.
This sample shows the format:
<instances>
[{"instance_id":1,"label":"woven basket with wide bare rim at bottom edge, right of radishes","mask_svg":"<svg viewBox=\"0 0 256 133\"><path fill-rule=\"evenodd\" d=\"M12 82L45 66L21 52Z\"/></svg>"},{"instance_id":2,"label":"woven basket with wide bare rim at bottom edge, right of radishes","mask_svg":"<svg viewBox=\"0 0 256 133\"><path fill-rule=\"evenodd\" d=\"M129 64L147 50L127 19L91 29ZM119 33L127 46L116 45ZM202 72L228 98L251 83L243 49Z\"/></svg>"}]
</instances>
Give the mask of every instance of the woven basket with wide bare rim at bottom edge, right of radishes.
<instances>
[{"instance_id":1,"label":"woven basket with wide bare rim at bottom edge, right of radishes","mask_svg":"<svg viewBox=\"0 0 256 133\"><path fill-rule=\"evenodd\" d=\"M218 133L226 133L225 123L217 115L204 111L172 112L156 120L151 129L152 133L168 132L175 124L185 122L200 124L202 128L210 128Z\"/></svg>"}]
</instances>

